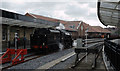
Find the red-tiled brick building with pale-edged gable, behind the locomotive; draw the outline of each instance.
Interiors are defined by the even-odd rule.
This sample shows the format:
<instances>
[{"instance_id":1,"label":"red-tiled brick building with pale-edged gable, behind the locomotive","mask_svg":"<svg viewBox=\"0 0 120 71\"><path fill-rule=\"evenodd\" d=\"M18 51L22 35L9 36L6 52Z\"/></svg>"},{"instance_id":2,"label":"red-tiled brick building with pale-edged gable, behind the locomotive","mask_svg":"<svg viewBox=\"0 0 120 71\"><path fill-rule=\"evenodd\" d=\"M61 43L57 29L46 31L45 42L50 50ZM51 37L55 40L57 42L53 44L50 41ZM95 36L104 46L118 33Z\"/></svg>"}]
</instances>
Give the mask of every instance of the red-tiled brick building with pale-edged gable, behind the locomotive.
<instances>
[{"instance_id":1,"label":"red-tiled brick building with pale-edged gable, behind the locomotive","mask_svg":"<svg viewBox=\"0 0 120 71\"><path fill-rule=\"evenodd\" d=\"M62 29L68 31L70 34L72 34L72 37L74 39L78 37L85 37L86 30L88 30L87 34L89 37L97 37L101 35L107 35L110 34L110 31L107 29L104 29L100 26L90 26L89 24L86 24L83 21L64 21L60 19L50 18L50 17L44 17L41 15L26 13L26 16L30 16L37 19L44 19L48 21L53 22L60 22L62 25ZM55 27L54 27L55 28Z\"/></svg>"}]
</instances>

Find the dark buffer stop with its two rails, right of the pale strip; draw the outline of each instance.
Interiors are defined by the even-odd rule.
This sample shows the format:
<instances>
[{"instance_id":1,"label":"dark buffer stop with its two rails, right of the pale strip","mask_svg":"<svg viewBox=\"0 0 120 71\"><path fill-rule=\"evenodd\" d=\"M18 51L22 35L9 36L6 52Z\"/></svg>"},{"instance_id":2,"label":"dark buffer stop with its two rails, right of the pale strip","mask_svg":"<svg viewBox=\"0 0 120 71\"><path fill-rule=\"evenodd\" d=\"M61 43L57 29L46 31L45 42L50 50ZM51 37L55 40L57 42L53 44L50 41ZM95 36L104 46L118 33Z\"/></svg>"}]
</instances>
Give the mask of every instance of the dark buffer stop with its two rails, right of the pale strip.
<instances>
[{"instance_id":1,"label":"dark buffer stop with its two rails, right of the pale strip","mask_svg":"<svg viewBox=\"0 0 120 71\"><path fill-rule=\"evenodd\" d=\"M103 43L95 43L94 45L88 46L88 47L78 47L75 48L75 53L76 53L76 60L75 60L75 65L72 66L72 68L75 68L89 53L94 54L94 59L93 59L93 64L92 68L94 69L96 67L96 60L102 51ZM82 58L79 59L79 54L80 53L86 53Z\"/></svg>"}]
</instances>

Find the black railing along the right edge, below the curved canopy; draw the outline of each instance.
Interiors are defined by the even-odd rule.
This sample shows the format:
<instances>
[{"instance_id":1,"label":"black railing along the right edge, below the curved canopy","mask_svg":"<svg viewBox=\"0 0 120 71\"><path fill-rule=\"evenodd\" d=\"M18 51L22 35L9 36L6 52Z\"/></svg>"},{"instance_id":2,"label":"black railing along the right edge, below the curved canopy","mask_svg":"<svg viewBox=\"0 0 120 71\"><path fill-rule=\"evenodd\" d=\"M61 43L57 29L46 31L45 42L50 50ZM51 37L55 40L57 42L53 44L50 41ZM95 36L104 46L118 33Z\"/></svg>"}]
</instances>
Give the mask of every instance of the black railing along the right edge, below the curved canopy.
<instances>
[{"instance_id":1,"label":"black railing along the right edge, below the curved canopy","mask_svg":"<svg viewBox=\"0 0 120 71\"><path fill-rule=\"evenodd\" d=\"M112 65L117 71L120 71L120 45L110 40L105 40L105 54Z\"/></svg>"}]
</instances>

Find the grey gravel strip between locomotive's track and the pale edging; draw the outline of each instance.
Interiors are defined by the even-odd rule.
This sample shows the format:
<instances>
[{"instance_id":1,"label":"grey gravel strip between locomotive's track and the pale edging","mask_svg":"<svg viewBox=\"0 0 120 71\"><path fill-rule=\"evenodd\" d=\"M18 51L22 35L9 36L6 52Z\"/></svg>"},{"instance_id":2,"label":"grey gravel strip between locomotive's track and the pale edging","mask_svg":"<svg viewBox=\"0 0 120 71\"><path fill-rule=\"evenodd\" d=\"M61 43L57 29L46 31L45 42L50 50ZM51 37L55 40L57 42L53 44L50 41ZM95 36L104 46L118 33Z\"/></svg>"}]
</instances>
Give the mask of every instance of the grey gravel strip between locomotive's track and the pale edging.
<instances>
[{"instance_id":1,"label":"grey gravel strip between locomotive's track and the pale edging","mask_svg":"<svg viewBox=\"0 0 120 71\"><path fill-rule=\"evenodd\" d=\"M53 60L56 60L70 52L73 52L73 51L74 51L74 48L65 49L63 51L48 54L48 55L39 57L37 59L30 60L28 62L18 64L9 69L37 69L38 67L40 67L48 62L51 62Z\"/></svg>"}]
</instances>

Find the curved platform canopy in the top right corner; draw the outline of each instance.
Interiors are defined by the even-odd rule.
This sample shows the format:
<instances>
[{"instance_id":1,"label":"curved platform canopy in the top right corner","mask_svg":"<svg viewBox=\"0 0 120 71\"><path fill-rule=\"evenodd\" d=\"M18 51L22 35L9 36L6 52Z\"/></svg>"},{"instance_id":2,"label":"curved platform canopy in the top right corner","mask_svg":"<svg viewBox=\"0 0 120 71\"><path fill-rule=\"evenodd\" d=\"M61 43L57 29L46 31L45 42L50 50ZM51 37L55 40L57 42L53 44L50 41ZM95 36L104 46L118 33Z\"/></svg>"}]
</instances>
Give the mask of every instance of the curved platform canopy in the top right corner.
<instances>
[{"instance_id":1,"label":"curved platform canopy in the top right corner","mask_svg":"<svg viewBox=\"0 0 120 71\"><path fill-rule=\"evenodd\" d=\"M120 0L98 0L98 17L104 25L120 25Z\"/></svg>"}]
</instances>

